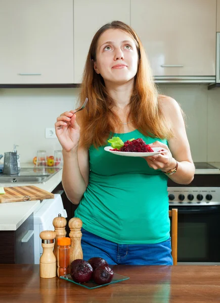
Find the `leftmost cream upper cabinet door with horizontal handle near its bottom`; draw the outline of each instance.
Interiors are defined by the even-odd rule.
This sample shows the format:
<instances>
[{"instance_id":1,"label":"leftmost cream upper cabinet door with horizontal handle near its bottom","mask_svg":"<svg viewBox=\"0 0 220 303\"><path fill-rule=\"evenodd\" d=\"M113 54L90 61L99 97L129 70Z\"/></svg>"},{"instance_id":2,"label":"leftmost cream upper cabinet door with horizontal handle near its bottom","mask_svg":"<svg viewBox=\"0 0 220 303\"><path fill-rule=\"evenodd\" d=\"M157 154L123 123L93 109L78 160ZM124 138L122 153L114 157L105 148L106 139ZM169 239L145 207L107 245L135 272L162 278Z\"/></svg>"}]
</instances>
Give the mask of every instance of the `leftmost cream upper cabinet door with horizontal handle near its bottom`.
<instances>
[{"instance_id":1,"label":"leftmost cream upper cabinet door with horizontal handle near its bottom","mask_svg":"<svg viewBox=\"0 0 220 303\"><path fill-rule=\"evenodd\" d=\"M1 0L0 84L73 83L73 0Z\"/></svg>"}]
</instances>

